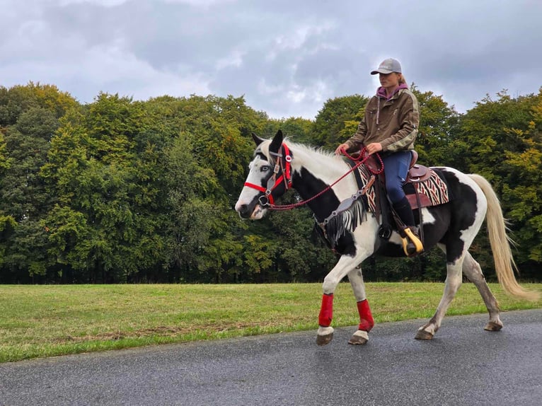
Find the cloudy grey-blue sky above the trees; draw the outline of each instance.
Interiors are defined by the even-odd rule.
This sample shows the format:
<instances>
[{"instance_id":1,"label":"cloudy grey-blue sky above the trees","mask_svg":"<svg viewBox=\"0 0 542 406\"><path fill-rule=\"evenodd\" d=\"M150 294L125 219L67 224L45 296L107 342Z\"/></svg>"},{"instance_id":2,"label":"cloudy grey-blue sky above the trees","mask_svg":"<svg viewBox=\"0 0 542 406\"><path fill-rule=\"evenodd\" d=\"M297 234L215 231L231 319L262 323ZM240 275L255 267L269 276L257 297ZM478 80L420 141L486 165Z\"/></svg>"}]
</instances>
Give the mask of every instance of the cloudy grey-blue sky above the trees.
<instances>
[{"instance_id":1,"label":"cloudy grey-blue sky above the trees","mask_svg":"<svg viewBox=\"0 0 542 406\"><path fill-rule=\"evenodd\" d=\"M372 95L386 57L465 112L486 94L538 93L540 0L0 0L0 86L54 84L81 103L244 95L313 119Z\"/></svg>"}]
</instances>

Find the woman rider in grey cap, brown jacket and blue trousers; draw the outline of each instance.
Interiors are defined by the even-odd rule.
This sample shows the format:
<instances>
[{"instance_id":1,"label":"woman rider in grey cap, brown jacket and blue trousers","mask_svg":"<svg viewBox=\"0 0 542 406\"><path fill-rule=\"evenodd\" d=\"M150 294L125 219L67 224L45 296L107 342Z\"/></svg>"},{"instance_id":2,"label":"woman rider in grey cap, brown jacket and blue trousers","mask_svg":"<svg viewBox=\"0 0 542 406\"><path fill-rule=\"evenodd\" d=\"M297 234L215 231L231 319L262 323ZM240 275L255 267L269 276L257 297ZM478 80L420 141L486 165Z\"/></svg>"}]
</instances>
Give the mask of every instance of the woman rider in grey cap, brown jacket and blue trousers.
<instances>
[{"instance_id":1,"label":"woman rider in grey cap, brown jacket and blue trousers","mask_svg":"<svg viewBox=\"0 0 542 406\"><path fill-rule=\"evenodd\" d=\"M388 197L407 226L403 230L403 238L408 236L405 253L415 255L423 251L423 245L417 236L414 214L403 184L412 161L410 150L414 149L420 112L416 96L408 89L398 60L385 59L378 69L371 71L371 75L376 74L379 74L381 87L367 103L357 132L340 144L335 153L359 150L361 145L369 154L381 152Z\"/></svg>"}]
</instances>

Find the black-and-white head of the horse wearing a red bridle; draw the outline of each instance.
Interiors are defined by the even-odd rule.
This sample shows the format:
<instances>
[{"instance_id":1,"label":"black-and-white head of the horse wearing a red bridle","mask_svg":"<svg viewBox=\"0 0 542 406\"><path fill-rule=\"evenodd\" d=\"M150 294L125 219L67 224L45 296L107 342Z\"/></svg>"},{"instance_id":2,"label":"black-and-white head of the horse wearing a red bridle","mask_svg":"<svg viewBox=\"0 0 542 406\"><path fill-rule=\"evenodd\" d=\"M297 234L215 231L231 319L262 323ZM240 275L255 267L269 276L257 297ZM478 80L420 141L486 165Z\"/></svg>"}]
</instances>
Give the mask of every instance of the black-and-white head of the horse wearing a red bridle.
<instances>
[{"instance_id":1,"label":"black-and-white head of the horse wearing a red bridle","mask_svg":"<svg viewBox=\"0 0 542 406\"><path fill-rule=\"evenodd\" d=\"M272 140L261 139L252 134L256 149L250 162L245 187L235 205L243 219L258 220L265 216L275 199L284 195L292 185L290 162L292 155L282 142L282 131Z\"/></svg>"}]
</instances>

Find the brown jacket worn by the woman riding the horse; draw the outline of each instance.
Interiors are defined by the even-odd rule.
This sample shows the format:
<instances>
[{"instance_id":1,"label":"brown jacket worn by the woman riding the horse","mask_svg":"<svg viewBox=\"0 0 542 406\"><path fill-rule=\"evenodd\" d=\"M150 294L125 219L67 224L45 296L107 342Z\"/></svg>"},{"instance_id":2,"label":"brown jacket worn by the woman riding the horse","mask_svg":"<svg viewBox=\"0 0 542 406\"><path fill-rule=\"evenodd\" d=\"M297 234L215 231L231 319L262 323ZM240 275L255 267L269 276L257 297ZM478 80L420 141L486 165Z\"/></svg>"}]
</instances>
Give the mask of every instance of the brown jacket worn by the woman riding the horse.
<instances>
[{"instance_id":1,"label":"brown jacket worn by the woman riding the horse","mask_svg":"<svg viewBox=\"0 0 542 406\"><path fill-rule=\"evenodd\" d=\"M379 142L384 152L414 149L419 124L417 99L406 85L401 85L389 100L379 89L367 103L357 132L346 143L350 151L372 142Z\"/></svg>"}]
</instances>

